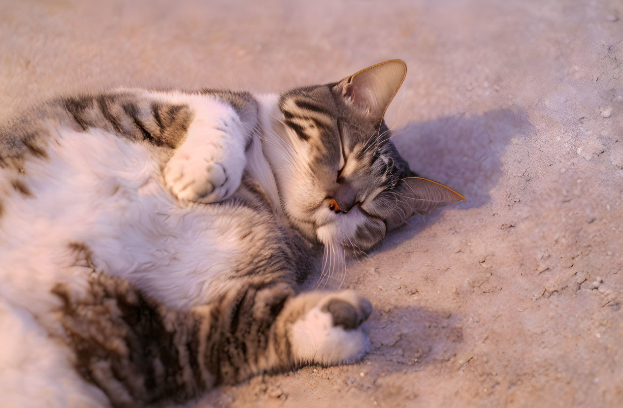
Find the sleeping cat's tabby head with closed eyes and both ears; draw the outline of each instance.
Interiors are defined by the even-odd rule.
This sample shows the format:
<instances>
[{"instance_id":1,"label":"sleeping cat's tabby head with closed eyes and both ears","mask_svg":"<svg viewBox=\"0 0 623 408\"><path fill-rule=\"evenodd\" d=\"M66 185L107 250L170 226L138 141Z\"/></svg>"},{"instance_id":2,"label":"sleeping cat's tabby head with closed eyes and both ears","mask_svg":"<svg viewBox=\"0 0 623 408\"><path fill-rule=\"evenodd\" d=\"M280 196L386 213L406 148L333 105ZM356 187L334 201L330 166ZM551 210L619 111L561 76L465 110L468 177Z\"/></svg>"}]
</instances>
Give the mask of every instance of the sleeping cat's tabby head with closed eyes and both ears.
<instances>
[{"instance_id":1,"label":"sleeping cat's tabby head with closed eyes and both ears","mask_svg":"<svg viewBox=\"0 0 623 408\"><path fill-rule=\"evenodd\" d=\"M463 197L414 174L383 115L406 75L389 60L279 99L278 141L265 147L280 199L311 240L367 251L415 212Z\"/></svg>"}]
</instances>

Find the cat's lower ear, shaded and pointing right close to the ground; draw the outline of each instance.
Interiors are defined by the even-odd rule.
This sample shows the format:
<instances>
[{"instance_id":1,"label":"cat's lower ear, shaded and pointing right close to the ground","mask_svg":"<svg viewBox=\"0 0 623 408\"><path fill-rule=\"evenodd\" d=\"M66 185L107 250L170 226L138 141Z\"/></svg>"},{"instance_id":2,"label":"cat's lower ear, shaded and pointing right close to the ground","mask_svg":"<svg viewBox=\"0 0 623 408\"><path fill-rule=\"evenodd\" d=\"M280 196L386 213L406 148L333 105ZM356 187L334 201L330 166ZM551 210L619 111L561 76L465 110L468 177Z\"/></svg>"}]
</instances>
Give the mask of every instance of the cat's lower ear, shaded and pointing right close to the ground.
<instances>
[{"instance_id":1,"label":"cat's lower ear, shaded and pointing right close to the ground","mask_svg":"<svg viewBox=\"0 0 623 408\"><path fill-rule=\"evenodd\" d=\"M414 214L425 214L437 207L465 199L453 189L421 177L401 179L396 188L396 207L385 220L388 230L396 229Z\"/></svg>"}]
</instances>

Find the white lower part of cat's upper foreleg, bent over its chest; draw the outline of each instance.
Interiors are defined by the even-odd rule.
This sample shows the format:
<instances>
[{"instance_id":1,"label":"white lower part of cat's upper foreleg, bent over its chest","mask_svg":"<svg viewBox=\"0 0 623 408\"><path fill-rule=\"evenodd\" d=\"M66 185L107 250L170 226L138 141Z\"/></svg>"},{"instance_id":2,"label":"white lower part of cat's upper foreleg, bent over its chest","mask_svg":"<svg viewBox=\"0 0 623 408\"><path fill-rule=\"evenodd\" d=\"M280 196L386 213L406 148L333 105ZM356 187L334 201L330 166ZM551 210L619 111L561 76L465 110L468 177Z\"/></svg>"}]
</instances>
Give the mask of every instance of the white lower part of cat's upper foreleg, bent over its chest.
<instances>
[{"instance_id":1,"label":"white lower part of cat's upper foreleg, bent over its chest","mask_svg":"<svg viewBox=\"0 0 623 408\"><path fill-rule=\"evenodd\" d=\"M245 148L257 127L255 106L243 100L234 108L214 96L189 98L187 103L194 119L164 168L164 181L182 201L222 201L240 185Z\"/></svg>"}]
</instances>

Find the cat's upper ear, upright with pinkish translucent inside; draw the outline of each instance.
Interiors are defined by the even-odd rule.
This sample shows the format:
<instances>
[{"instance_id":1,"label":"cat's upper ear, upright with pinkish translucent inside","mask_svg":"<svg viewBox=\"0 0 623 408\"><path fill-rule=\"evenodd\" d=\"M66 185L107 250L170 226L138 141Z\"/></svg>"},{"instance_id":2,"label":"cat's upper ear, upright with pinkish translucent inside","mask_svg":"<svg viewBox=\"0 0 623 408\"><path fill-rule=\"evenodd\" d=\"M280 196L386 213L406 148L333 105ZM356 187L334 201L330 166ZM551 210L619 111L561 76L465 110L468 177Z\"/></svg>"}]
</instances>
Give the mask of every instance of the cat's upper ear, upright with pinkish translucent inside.
<instances>
[{"instance_id":1,"label":"cat's upper ear, upright with pinkish translucent inside","mask_svg":"<svg viewBox=\"0 0 623 408\"><path fill-rule=\"evenodd\" d=\"M336 88L358 115L380 121L406 75L404 62L389 60L344 78Z\"/></svg>"}]
</instances>

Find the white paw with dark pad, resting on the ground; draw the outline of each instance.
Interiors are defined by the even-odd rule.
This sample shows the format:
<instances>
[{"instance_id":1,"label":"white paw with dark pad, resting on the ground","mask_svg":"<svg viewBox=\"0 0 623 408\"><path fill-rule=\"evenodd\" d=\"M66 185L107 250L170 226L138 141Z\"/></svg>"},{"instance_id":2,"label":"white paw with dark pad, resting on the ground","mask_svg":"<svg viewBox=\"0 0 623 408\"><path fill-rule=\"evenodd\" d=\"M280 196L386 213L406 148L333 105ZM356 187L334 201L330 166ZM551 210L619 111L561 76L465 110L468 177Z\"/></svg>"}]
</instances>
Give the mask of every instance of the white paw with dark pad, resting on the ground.
<instances>
[{"instance_id":1,"label":"white paw with dark pad, resting on the ground","mask_svg":"<svg viewBox=\"0 0 623 408\"><path fill-rule=\"evenodd\" d=\"M353 363L368 351L368 335L361 323L372 305L353 291L322 298L290 329L292 356L299 363Z\"/></svg>"}]
</instances>

